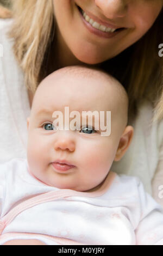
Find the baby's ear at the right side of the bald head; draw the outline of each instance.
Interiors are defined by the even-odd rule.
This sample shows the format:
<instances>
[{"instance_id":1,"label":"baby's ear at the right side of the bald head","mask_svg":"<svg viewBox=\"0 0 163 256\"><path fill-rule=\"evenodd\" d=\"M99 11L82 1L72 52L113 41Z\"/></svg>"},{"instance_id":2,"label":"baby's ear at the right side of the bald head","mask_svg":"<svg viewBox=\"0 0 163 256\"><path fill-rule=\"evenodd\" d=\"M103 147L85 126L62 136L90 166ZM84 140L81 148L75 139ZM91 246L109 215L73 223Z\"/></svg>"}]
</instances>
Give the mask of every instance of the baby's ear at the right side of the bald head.
<instances>
[{"instance_id":1,"label":"baby's ear at the right side of the bald head","mask_svg":"<svg viewBox=\"0 0 163 256\"><path fill-rule=\"evenodd\" d=\"M122 156L126 153L127 149L129 148L133 135L134 135L133 126L127 126L121 136L114 161L117 162L121 160Z\"/></svg>"}]
</instances>

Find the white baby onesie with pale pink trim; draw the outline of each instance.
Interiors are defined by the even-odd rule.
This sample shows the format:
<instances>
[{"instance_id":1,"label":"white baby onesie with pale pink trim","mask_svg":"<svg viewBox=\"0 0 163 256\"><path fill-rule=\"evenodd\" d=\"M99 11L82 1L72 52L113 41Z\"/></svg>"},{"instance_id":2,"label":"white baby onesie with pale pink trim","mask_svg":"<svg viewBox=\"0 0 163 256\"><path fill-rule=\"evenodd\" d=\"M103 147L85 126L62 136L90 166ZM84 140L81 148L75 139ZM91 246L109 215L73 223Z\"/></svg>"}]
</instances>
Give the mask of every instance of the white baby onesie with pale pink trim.
<instances>
[{"instance_id":1,"label":"white baby onesie with pale pink trim","mask_svg":"<svg viewBox=\"0 0 163 256\"><path fill-rule=\"evenodd\" d=\"M163 210L138 178L109 172L93 192L37 180L26 159L0 164L0 245L163 245Z\"/></svg>"}]
</instances>

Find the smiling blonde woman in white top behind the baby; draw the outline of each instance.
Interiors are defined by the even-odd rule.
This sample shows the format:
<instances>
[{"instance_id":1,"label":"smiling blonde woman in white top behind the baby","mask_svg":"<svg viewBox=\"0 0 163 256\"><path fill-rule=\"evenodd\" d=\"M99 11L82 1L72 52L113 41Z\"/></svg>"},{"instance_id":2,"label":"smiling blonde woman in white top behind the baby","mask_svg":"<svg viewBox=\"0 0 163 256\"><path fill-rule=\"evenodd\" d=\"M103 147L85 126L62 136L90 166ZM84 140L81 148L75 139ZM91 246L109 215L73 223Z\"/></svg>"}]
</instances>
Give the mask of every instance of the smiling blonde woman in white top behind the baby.
<instances>
[{"instance_id":1,"label":"smiling blonde woman in white top behind the baby","mask_svg":"<svg viewBox=\"0 0 163 256\"><path fill-rule=\"evenodd\" d=\"M13 3L14 22L0 22L1 162L26 156L26 118L45 76L68 65L98 66L126 88L135 128L128 153L112 170L139 176L149 193L153 179L153 197L163 205L163 1Z\"/></svg>"}]
</instances>

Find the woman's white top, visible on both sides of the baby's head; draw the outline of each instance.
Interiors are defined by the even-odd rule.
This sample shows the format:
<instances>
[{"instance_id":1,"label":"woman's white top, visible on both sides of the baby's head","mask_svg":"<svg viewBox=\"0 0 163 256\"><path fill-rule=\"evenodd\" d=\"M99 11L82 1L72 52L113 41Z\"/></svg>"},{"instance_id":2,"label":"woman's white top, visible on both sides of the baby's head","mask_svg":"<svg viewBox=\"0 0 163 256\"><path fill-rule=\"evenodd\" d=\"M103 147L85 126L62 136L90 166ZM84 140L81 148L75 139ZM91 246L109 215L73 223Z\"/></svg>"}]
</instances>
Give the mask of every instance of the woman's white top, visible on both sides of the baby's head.
<instances>
[{"instance_id":1,"label":"woman's white top, visible on both sides of the baby's head","mask_svg":"<svg viewBox=\"0 0 163 256\"><path fill-rule=\"evenodd\" d=\"M12 41L6 35L11 22L12 20L0 19L0 44L3 45L4 53L4 56L0 57L1 163L16 157L26 157L27 117L30 113L23 74L12 53ZM111 170L118 174L138 176L150 194L152 194L151 183L157 166L163 172L163 161L160 164L163 155L163 120L151 124L152 115L151 102L143 101L139 115L131 124L134 127L133 141L122 160L114 162L111 167ZM162 184L159 185L163 185L163 179Z\"/></svg>"}]
</instances>

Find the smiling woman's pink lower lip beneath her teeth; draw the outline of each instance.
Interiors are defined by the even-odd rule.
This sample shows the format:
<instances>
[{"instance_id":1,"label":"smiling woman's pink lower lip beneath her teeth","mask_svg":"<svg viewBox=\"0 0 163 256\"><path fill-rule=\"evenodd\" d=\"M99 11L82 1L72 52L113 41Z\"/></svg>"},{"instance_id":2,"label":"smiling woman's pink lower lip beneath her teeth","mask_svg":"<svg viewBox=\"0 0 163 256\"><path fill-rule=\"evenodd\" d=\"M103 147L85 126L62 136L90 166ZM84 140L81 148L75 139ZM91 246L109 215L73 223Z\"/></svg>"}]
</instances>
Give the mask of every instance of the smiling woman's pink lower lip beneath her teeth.
<instances>
[{"instance_id":1,"label":"smiling woman's pink lower lip beneath her teeth","mask_svg":"<svg viewBox=\"0 0 163 256\"><path fill-rule=\"evenodd\" d=\"M78 11L79 11L79 9L78 9ZM93 34L95 34L95 35L98 35L98 36L100 36L101 38L106 38L106 39L108 39L108 38L113 38L114 36L116 36L118 33L120 33L121 31L117 31L117 32L114 32L114 33L112 33L112 32L102 32L102 31L99 31L99 29L97 29L97 28L93 28L92 26L91 26L91 24L89 23L89 22L87 22L85 19L84 19L84 17L83 17L83 15L80 13L80 11L79 11L79 14L80 14L80 17L82 17L82 21L83 21L83 23L84 23L84 26L91 32L91 33L93 33Z\"/></svg>"}]
</instances>

